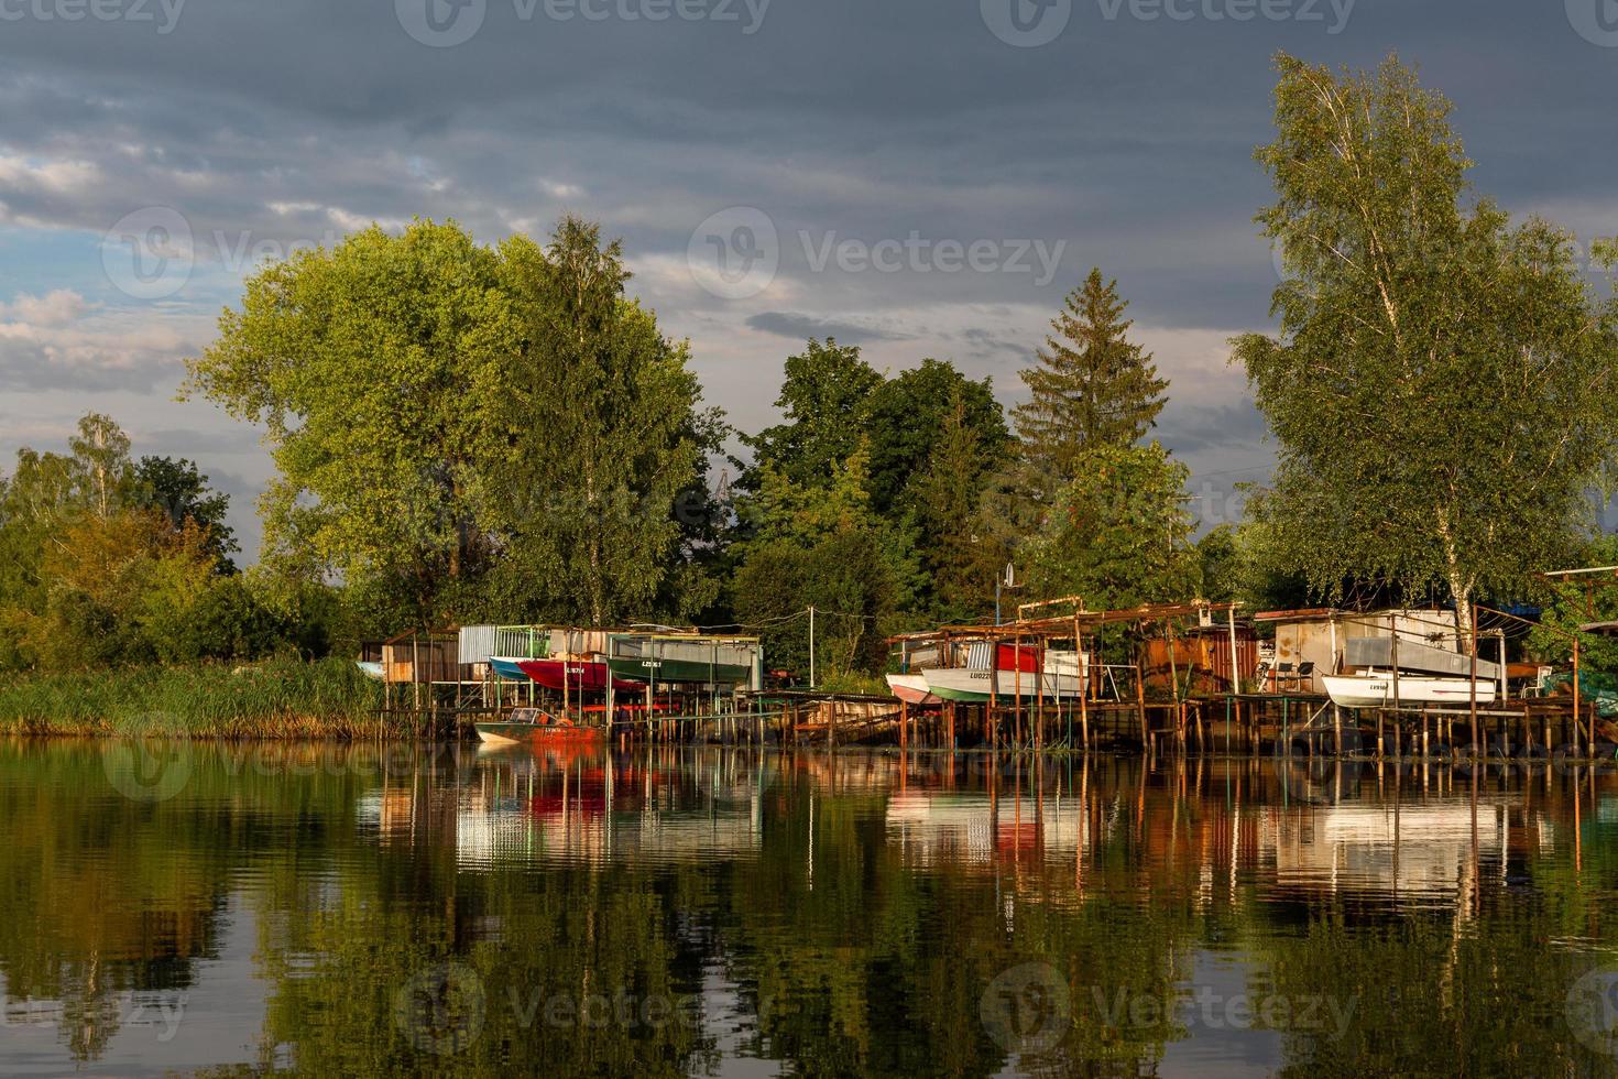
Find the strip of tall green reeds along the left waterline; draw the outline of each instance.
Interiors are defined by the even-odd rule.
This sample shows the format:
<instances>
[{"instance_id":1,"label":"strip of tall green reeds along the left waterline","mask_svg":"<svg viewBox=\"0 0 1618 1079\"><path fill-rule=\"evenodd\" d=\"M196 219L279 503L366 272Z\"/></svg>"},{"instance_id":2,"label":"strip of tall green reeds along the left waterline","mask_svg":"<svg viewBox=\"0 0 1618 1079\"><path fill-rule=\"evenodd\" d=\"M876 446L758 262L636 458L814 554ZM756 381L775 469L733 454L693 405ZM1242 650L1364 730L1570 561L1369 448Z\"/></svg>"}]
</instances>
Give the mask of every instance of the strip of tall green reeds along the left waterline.
<instances>
[{"instance_id":1,"label":"strip of tall green reeds along the left waterline","mask_svg":"<svg viewBox=\"0 0 1618 1079\"><path fill-rule=\"evenodd\" d=\"M375 738L382 686L348 660L139 666L0 681L0 733Z\"/></svg>"}]
</instances>

